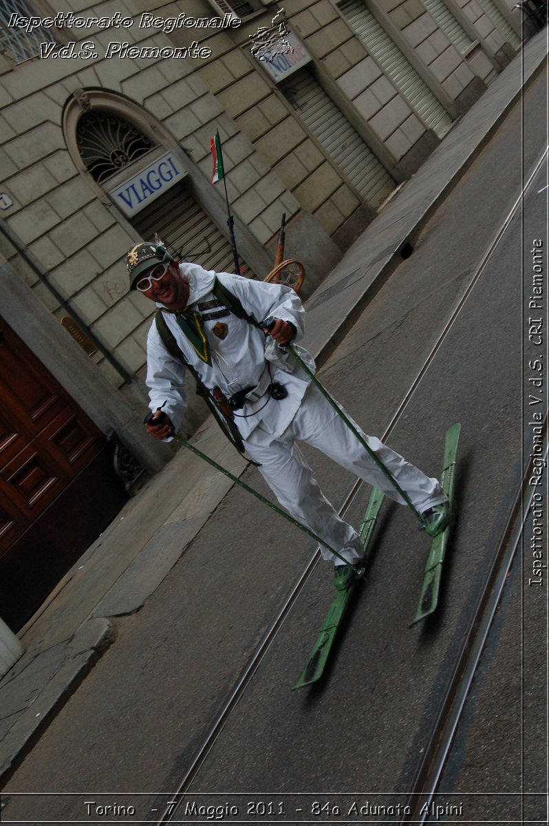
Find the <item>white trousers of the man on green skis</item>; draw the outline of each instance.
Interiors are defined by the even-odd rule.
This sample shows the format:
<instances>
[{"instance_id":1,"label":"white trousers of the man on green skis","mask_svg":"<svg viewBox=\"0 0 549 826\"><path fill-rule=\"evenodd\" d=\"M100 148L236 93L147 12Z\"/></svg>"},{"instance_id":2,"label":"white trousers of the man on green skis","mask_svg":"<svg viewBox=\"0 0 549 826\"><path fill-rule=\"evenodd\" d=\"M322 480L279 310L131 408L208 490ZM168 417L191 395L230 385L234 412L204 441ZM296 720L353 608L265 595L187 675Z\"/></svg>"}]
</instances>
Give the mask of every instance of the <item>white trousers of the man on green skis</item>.
<instances>
[{"instance_id":1,"label":"white trousers of the man on green skis","mask_svg":"<svg viewBox=\"0 0 549 826\"><path fill-rule=\"evenodd\" d=\"M268 403L278 404L274 399ZM437 479L425 476L379 439L363 434L354 421L353 425L420 513L445 501L446 496ZM244 441L248 455L260 464L259 472L282 507L344 559L355 563L363 553L360 537L351 525L339 518L325 498L296 441L321 450L364 482L379 488L390 499L400 504L405 504L405 501L315 384L307 388L294 420L282 436L273 437L263 430L262 425L248 435ZM324 559L333 559L338 564L338 558L328 548L321 546L320 549Z\"/></svg>"}]
</instances>

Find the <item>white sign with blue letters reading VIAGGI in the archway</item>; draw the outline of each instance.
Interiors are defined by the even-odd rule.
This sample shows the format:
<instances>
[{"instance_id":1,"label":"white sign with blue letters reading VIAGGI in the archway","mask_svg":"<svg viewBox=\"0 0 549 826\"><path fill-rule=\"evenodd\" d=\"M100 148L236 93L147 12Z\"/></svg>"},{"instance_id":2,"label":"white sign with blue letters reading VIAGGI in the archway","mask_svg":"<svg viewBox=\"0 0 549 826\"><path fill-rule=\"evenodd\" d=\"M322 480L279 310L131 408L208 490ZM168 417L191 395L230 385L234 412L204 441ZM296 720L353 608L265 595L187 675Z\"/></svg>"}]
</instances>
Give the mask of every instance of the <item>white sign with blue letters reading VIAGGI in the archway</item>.
<instances>
[{"instance_id":1,"label":"white sign with blue letters reading VIAGGI in the archway","mask_svg":"<svg viewBox=\"0 0 549 826\"><path fill-rule=\"evenodd\" d=\"M111 189L109 195L124 215L130 217L148 207L149 203L173 187L173 184L186 174L177 155L167 152L155 160L154 164L141 169L116 189Z\"/></svg>"}]
</instances>

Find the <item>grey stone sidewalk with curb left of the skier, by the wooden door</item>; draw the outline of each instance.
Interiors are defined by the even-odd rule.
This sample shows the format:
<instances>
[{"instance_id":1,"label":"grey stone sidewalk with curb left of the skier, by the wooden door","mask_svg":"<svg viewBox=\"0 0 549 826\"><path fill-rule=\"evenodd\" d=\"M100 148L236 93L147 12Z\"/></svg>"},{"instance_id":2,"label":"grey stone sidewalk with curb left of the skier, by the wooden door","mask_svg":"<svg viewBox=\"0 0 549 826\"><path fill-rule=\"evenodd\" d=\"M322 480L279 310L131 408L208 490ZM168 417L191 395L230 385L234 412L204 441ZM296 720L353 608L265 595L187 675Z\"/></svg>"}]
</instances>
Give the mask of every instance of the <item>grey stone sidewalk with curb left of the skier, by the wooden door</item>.
<instances>
[{"instance_id":1,"label":"grey stone sidewalk with curb left of the skier, by the wooden door","mask_svg":"<svg viewBox=\"0 0 549 826\"><path fill-rule=\"evenodd\" d=\"M226 442L217 426L214 423L209 425L208 421L206 420L201 430L196 432L193 440L197 440L197 443L201 445L206 444L206 450L213 453L236 475L240 475L248 466L247 463ZM171 476L177 474L175 460L176 457L167 468ZM140 610L144 602L177 564L187 545L205 525L220 501L230 491L232 483L225 477L217 479L218 476L217 472L208 472L207 468L204 471L200 470L198 482L195 480L193 487L192 501L187 501L188 496L183 499L177 498L177 506L172 506L164 513L163 520L159 521L149 539L144 541L135 557L116 576L111 586L103 592L103 596L90 610L88 617L78 626L72 637L50 643L50 648L42 649L40 645L44 642L43 632L40 638L36 638L35 624L31 624L29 647L7 676L0 681L2 690L7 691L8 703L11 700L10 684L14 681L21 683L17 691L17 696L21 695L20 702L18 704L16 702L12 714L8 709L0 718L0 743L2 743L0 789L21 766L41 734L53 722L56 714L64 707L71 695L77 691L78 686L88 676L98 659L111 643L115 642L116 625L111 620L117 616L129 615ZM160 474L155 479L156 482L154 479L151 480L151 487L148 491L149 503L156 501L159 490L166 484L166 472L163 475L163 482L161 482ZM196 496L197 491L199 496ZM132 517L126 515L124 519L129 522ZM72 580L78 577L80 569L94 562L94 554L97 558L101 558L101 554L105 553L103 546L109 540L116 543L116 529L119 526L120 520L115 520L88 548L88 551L68 572L64 586L70 586ZM56 596L59 599L64 593L64 587L59 587L57 591ZM45 611L47 610L46 607ZM40 618L36 620L36 624L39 623ZM44 664L40 664L42 660L45 661ZM26 708L21 710L18 705L26 705ZM9 727L9 719L15 714L18 714L17 720ZM4 722L7 730L2 735L2 723Z\"/></svg>"}]
</instances>

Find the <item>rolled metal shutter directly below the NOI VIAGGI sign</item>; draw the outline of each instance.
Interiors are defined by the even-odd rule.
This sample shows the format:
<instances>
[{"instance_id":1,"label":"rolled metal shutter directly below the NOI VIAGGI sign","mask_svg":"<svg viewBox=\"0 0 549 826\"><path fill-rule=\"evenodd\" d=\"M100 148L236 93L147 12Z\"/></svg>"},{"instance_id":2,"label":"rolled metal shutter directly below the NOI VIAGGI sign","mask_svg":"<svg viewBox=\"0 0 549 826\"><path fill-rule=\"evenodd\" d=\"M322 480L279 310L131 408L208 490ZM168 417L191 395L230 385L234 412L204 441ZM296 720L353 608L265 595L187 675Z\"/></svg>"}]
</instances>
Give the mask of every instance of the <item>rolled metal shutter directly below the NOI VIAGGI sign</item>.
<instances>
[{"instance_id":1,"label":"rolled metal shutter directly below the NOI VIAGGI sign","mask_svg":"<svg viewBox=\"0 0 549 826\"><path fill-rule=\"evenodd\" d=\"M379 207L396 183L313 75L296 73L282 93L364 201Z\"/></svg>"}]
</instances>

